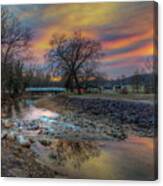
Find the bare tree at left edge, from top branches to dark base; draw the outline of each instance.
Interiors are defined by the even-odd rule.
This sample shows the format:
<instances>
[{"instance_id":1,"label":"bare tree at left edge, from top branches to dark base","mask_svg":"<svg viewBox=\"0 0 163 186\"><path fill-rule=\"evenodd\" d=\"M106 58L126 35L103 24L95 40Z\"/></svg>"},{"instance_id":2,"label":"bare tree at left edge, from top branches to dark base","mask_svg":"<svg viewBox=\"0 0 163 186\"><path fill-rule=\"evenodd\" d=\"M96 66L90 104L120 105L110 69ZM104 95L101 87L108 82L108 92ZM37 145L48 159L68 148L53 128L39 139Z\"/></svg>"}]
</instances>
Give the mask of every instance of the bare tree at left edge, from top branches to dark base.
<instances>
[{"instance_id":1,"label":"bare tree at left edge, from top branches to dark base","mask_svg":"<svg viewBox=\"0 0 163 186\"><path fill-rule=\"evenodd\" d=\"M7 9L1 9L1 75L2 93L16 94L23 77L23 62L29 58L27 49L32 38L31 29L23 27ZM14 87L13 87L14 86ZM16 87L17 86L17 87ZM14 93L15 92L15 93Z\"/></svg>"}]
</instances>

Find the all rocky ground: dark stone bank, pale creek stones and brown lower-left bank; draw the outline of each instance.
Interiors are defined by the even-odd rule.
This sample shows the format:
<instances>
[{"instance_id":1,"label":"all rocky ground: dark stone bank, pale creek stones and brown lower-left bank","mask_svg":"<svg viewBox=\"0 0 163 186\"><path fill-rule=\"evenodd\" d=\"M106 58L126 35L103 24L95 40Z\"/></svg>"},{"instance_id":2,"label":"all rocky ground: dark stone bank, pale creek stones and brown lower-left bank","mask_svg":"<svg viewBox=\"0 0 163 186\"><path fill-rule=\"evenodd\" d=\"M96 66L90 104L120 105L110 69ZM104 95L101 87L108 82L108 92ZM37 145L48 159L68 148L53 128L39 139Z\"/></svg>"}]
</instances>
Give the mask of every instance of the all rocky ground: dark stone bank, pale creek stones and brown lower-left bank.
<instances>
[{"instance_id":1,"label":"all rocky ground: dark stone bank, pale creek stones and brown lower-left bank","mask_svg":"<svg viewBox=\"0 0 163 186\"><path fill-rule=\"evenodd\" d=\"M123 141L131 134L153 137L157 128L152 104L59 96L35 105L45 108L36 110L40 117L28 119L29 112L24 118L1 119L2 176L62 177L40 164L47 157L60 160L63 152L55 150L56 140ZM54 114L46 115L48 107Z\"/></svg>"}]
</instances>

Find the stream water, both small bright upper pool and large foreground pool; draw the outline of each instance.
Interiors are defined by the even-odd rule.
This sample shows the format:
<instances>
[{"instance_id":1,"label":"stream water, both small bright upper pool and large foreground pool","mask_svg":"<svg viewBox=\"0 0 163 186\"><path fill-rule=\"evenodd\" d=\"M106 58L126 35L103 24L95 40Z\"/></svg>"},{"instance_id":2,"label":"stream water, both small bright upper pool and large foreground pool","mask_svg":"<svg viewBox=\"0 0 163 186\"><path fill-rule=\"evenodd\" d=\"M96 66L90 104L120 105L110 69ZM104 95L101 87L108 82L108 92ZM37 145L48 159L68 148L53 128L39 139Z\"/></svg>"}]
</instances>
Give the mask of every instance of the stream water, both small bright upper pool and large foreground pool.
<instances>
[{"instance_id":1,"label":"stream water, both small bright upper pool and large foreground pool","mask_svg":"<svg viewBox=\"0 0 163 186\"><path fill-rule=\"evenodd\" d=\"M5 108L7 117L34 120L58 117L32 100ZM68 141L54 139L50 148L34 144L37 161L69 178L153 180L155 139L129 136L123 141Z\"/></svg>"}]
</instances>

